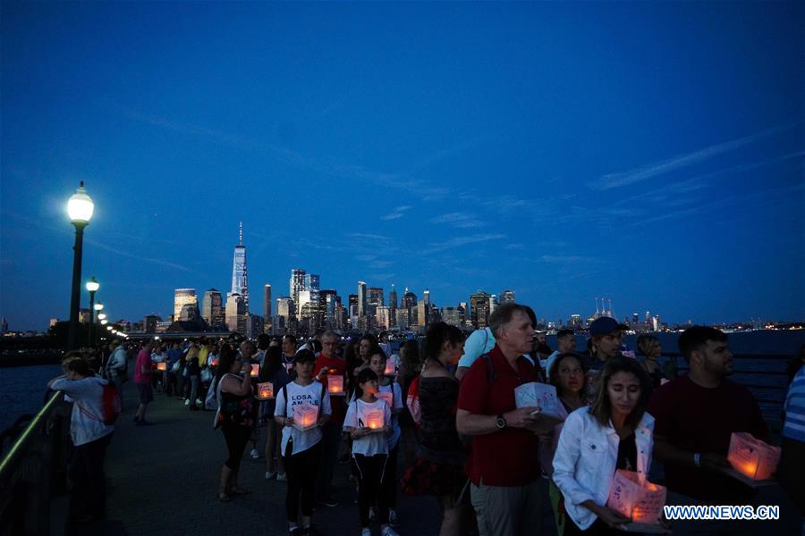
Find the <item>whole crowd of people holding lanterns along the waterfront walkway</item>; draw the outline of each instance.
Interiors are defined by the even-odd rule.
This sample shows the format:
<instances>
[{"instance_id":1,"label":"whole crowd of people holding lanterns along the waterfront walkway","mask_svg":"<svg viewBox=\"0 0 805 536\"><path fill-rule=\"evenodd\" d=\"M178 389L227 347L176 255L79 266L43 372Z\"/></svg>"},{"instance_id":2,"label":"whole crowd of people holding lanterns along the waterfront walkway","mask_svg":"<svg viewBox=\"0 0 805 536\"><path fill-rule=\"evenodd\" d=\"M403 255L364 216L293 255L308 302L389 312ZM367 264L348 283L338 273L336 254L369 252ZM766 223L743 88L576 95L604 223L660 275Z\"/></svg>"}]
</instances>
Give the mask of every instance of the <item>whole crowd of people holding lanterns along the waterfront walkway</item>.
<instances>
[{"instance_id":1,"label":"whole crowd of people holding lanterns along the waterfront walkway","mask_svg":"<svg viewBox=\"0 0 805 536\"><path fill-rule=\"evenodd\" d=\"M317 506L339 506L339 462L351 466L361 536L373 523L382 536L404 526L398 489L436 497L443 536L540 534L543 523L555 524L560 536L620 532L631 520L607 506L618 470L662 483L669 503L753 504L756 491L725 471L730 438L743 431L772 440L757 400L728 378L726 334L701 326L684 331L678 344L689 371L677 375L674 360L662 363L655 337L637 340L640 359L623 347L623 326L612 318L592 322L583 351L573 331L559 331L553 351L535 324L530 307L506 304L466 339L437 322L421 346L409 339L399 352L384 336L344 341L335 331L303 343L292 335L220 344L149 340L133 358L133 421L150 423L155 390L181 398L191 411L214 410L228 451L217 498L249 493L238 483L242 457L265 457L265 479L285 483L288 531L299 536L319 532L312 524ZM115 341L101 374L71 357L65 376L51 382L79 408L72 414L71 472L78 520L103 513L98 482L114 431L90 415L97 415L103 385L127 381L131 360L131 348ZM554 386L556 415L518 407L515 389L530 382ZM267 383L272 396L260 396L258 386ZM803 508L805 367L793 371L784 409L781 466L788 475L781 472L780 480ZM545 501L552 520L543 519ZM688 528L741 531L734 522Z\"/></svg>"}]
</instances>

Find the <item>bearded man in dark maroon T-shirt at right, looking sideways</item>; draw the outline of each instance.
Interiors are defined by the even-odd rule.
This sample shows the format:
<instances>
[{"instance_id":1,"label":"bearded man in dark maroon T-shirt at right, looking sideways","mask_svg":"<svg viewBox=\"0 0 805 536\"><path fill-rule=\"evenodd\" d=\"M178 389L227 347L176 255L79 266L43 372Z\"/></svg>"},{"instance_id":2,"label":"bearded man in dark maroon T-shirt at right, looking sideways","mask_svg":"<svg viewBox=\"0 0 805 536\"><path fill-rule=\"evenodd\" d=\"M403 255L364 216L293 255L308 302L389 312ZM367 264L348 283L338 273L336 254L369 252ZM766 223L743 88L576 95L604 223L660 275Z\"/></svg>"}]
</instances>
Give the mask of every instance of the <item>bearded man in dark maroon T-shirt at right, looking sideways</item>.
<instances>
[{"instance_id":1,"label":"bearded man in dark maroon T-shirt at right, looking sideways","mask_svg":"<svg viewBox=\"0 0 805 536\"><path fill-rule=\"evenodd\" d=\"M657 419L654 456L665 465L667 486L711 504L748 504L752 491L722 469L730 466L726 455L733 431L768 440L758 402L749 389L727 379L733 354L722 331L693 326L680 336L679 349L690 373L654 391L648 403Z\"/></svg>"}]
</instances>

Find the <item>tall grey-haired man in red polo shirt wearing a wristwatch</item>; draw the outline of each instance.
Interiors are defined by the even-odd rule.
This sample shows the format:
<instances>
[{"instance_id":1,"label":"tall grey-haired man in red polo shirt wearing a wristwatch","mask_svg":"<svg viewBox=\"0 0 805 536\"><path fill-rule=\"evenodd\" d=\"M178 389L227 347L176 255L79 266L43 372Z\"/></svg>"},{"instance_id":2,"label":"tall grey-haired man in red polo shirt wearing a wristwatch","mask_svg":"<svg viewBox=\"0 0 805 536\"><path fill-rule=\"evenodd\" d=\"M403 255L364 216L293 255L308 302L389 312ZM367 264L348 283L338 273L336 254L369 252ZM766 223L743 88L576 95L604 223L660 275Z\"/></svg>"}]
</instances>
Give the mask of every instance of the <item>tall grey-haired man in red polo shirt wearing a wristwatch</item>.
<instances>
[{"instance_id":1,"label":"tall grey-haired man in red polo shirt wearing a wristwatch","mask_svg":"<svg viewBox=\"0 0 805 536\"><path fill-rule=\"evenodd\" d=\"M534 325L526 307L499 306L489 319L496 346L470 366L459 390L456 427L472 436L466 471L480 536L539 534L542 526L539 438L549 426L536 407L514 402L514 389L538 381L531 351ZM490 366L491 365L491 366Z\"/></svg>"}]
</instances>

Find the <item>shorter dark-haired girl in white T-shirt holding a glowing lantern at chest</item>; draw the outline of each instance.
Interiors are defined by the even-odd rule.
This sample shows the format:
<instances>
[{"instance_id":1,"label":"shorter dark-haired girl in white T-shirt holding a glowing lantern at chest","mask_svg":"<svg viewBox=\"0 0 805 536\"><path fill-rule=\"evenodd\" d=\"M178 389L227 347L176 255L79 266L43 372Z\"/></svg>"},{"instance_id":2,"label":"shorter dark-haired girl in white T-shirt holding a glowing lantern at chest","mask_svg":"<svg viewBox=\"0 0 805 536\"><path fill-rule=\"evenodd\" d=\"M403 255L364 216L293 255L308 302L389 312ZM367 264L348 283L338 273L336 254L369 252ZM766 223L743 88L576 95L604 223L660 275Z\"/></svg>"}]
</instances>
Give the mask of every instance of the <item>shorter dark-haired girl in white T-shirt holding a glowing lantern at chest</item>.
<instances>
[{"instance_id":1,"label":"shorter dark-haired girl in white T-shirt holding a glowing lantern at chest","mask_svg":"<svg viewBox=\"0 0 805 536\"><path fill-rule=\"evenodd\" d=\"M388 524L388 498L380 493L388 461L388 440L391 433L391 410L377 398L377 374L370 368L358 373L359 395L347 408L343 430L352 438L352 458L358 469L358 509L361 536L371 536L369 507L377 498L382 536L398 536Z\"/></svg>"}]
</instances>

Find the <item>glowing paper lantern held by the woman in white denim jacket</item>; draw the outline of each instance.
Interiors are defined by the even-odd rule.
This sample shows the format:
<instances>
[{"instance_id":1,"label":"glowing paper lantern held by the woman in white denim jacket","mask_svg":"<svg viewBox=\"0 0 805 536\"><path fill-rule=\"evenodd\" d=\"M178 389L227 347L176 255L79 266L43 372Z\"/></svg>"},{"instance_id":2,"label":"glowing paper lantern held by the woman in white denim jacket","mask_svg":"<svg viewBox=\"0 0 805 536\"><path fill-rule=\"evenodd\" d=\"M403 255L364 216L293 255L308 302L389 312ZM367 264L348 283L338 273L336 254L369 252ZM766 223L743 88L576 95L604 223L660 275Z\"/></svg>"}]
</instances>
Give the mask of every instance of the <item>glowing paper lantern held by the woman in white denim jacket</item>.
<instances>
[{"instance_id":1,"label":"glowing paper lantern held by the woman in white denim jacket","mask_svg":"<svg viewBox=\"0 0 805 536\"><path fill-rule=\"evenodd\" d=\"M663 515L666 490L641 478L633 471L618 469L609 488L606 506L634 523L659 524Z\"/></svg>"}]
</instances>

